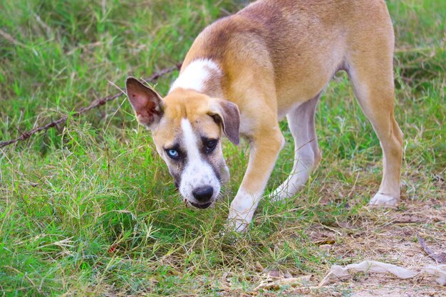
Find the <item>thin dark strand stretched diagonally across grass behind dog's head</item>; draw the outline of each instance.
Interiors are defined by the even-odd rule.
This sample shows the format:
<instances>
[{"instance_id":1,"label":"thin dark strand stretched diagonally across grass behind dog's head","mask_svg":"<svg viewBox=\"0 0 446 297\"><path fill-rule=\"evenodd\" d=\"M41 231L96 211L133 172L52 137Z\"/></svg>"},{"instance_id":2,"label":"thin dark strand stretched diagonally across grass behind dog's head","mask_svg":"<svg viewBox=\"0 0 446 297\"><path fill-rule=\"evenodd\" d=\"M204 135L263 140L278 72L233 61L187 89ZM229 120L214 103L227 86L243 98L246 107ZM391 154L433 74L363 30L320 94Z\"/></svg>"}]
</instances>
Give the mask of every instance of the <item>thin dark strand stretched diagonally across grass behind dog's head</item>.
<instances>
[{"instance_id":1,"label":"thin dark strand stretched diagonally across grass behind dog's head","mask_svg":"<svg viewBox=\"0 0 446 297\"><path fill-rule=\"evenodd\" d=\"M155 80L157 80L158 78L162 77L163 75L166 75L167 73L171 73L175 70L179 70L181 67L181 63L176 64L175 66L172 66L170 68L165 68L162 69L161 71L158 71L157 73L153 73L149 78L146 78L145 80L147 82L155 82ZM0 142L0 148L1 147L6 147L7 145L12 145L13 143L16 143L20 140L26 140L29 137L31 137L32 135L41 132L41 131L46 131L52 127L56 127L57 125L61 124L61 123L65 123L68 120L68 117L78 117L80 115L82 115L83 113L86 113L90 110L92 110L93 108L97 108L101 105L105 105L105 103L108 103L108 101L111 100L115 100L116 98L120 98L120 96L124 95L124 93L116 93L115 95L108 95L104 98L101 98L99 100L95 100L93 101L93 103L91 103L90 105L80 108L78 111L76 111L75 113L71 114L71 115L63 115L62 118L59 118L58 120L53 120L51 123L48 123L44 126L41 127L35 127L27 132L22 133L22 135L20 135L19 137L17 137L16 139L12 139L12 140L8 140L8 141L1 141Z\"/></svg>"}]
</instances>

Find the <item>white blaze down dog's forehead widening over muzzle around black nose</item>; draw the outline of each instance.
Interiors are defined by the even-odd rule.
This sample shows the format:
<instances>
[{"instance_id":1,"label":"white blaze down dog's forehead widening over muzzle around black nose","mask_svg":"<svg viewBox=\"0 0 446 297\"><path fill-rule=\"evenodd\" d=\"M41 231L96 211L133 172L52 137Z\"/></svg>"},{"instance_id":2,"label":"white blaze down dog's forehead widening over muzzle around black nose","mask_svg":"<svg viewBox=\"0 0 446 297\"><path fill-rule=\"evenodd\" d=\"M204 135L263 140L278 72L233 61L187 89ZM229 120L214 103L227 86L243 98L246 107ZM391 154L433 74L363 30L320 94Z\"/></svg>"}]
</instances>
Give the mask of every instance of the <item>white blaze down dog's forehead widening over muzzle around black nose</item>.
<instances>
[{"instance_id":1,"label":"white blaze down dog's forehead widening over muzzle around black nose","mask_svg":"<svg viewBox=\"0 0 446 297\"><path fill-rule=\"evenodd\" d=\"M187 162L185 170L182 172L180 182L180 193L191 202L197 203L192 192L198 187L210 186L214 190L212 202L220 192L220 182L212 167L202 160L199 152L199 141L192 129L190 121L181 120L183 142L185 145Z\"/></svg>"}]
</instances>

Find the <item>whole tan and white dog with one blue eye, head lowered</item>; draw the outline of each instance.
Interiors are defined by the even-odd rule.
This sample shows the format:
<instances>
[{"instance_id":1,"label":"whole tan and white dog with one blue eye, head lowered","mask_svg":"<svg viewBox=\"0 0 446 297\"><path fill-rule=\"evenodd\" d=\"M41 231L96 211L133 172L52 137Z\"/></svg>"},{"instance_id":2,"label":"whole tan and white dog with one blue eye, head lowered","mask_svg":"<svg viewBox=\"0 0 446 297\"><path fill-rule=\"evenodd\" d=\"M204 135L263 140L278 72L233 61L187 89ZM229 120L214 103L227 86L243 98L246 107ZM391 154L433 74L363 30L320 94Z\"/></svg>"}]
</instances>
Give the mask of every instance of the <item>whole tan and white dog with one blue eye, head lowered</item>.
<instances>
[{"instance_id":1,"label":"whole tan and white dog with one blue eye, head lowered","mask_svg":"<svg viewBox=\"0 0 446 297\"><path fill-rule=\"evenodd\" d=\"M229 179L222 132L249 141L247 172L229 209L244 230L284 147L288 119L295 161L271 196L293 196L321 155L316 103L337 71L346 71L383 149L383 181L370 204L400 199L403 134L393 116L393 26L384 0L260 0L199 34L180 76L161 98L135 78L127 94L138 122L152 130L187 202L209 207Z\"/></svg>"}]
</instances>

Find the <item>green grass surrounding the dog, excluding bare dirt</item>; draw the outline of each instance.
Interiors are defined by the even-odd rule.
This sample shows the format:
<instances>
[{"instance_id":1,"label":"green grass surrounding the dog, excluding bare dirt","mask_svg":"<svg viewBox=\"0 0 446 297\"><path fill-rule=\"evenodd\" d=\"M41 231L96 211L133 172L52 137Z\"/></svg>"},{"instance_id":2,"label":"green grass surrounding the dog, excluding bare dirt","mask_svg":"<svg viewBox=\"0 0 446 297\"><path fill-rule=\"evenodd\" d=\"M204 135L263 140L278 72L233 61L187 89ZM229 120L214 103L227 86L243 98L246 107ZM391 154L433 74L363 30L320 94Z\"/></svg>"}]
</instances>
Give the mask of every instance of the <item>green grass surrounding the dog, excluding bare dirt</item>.
<instances>
[{"instance_id":1,"label":"green grass surrounding the dog, excluding bare dirt","mask_svg":"<svg viewBox=\"0 0 446 297\"><path fill-rule=\"evenodd\" d=\"M206 24L245 2L0 1L0 139L115 93L127 75L146 77L181 61ZM399 263L366 245L343 246L369 229L381 238L411 205L446 213L446 4L388 6L397 36L395 114L405 133L401 207L366 207L380 182L381 152L346 75L318 105L320 167L286 204L262 201L249 233L236 241L219 230L247 166L246 145L225 145L232 181L215 209L185 208L150 133L120 98L0 150L0 296L243 296L263 269L311 274L318 283L332 264L370 255ZM157 90L165 94L175 75ZM288 144L267 191L291 170L291 135L281 127ZM336 232L324 236L321 226ZM441 221L408 232L415 230L433 243L446 240ZM308 294L290 290L254 293ZM311 291L319 293L328 294Z\"/></svg>"}]
</instances>

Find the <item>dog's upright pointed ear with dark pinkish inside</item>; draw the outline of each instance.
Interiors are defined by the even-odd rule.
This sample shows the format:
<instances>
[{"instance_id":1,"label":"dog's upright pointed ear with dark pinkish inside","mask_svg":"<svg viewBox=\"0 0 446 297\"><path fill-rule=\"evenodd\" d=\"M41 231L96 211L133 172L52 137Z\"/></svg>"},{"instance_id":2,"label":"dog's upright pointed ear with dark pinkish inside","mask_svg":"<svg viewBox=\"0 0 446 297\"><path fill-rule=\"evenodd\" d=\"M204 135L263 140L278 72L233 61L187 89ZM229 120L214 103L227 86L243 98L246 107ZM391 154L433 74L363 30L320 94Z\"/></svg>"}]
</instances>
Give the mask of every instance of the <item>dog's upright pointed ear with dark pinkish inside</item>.
<instances>
[{"instance_id":1,"label":"dog's upright pointed ear with dark pinkish inside","mask_svg":"<svg viewBox=\"0 0 446 297\"><path fill-rule=\"evenodd\" d=\"M136 78L125 81L128 100L135 110L136 119L141 125L153 129L162 117L162 99L152 88L146 87Z\"/></svg>"}]
</instances>

